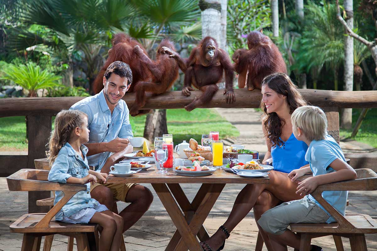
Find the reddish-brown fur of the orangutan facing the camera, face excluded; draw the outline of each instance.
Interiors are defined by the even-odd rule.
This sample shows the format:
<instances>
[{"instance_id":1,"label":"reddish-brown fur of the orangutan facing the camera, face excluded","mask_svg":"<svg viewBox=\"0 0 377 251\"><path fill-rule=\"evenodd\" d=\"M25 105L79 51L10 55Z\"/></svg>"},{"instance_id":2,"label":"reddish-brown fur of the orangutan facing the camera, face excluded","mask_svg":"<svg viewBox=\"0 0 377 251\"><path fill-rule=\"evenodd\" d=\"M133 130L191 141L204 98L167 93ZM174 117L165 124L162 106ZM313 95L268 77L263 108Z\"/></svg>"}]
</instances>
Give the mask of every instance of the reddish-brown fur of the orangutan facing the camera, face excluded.
<instances>
[{"instance_id":1,"label":"reddish-brown fur of the orangutan facing the camera, face excluded","mask_svg":"<svg viewBox=\"0 0 377 251\"><path fill-rule=\"evenodd\" d=\"M206 54L208 53L207 46L214 42L215 51L213 58L208 61ZM199 97L194 99L192 103L185 106L187 111L192 111L198 106L210 102L216 91L219 90L217 83L222 80L223 72L225 71L225 91L227 93L226 100L229 103L235 101L233 94L233 77L234 69L230 62L228 54L218 48L218 44L214 38L205 37L197 47L195 47L187 60L187 69L185 70L184 88L182 93L185 96L190 96L191 85L204 91Z\"/></svg>"}]
</instances>

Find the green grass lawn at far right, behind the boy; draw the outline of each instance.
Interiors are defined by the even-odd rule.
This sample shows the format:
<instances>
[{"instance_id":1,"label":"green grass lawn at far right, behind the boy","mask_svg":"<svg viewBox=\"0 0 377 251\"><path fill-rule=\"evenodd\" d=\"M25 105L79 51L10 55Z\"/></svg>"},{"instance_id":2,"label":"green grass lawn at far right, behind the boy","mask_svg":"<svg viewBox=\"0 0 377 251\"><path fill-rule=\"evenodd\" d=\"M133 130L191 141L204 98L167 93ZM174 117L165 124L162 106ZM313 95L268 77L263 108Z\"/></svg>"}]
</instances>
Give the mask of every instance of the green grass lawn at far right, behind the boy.
<instances>
[{"instance_id":1,"label":"green grass lawn at far right, behind the boy","mask_svg":"<svg viewBox=\"0 0 377 251\"><path fill-rule=\"evenodd\" d=\"M352 128L355 126L357 119L359 118L360 111L362 109L353 109L352 110ZM377 148L377 109L370 109L366 114L365 119L357 133L356 137L352 138L368 145ZM351 130L340 129L340 137L348 138L351 136Z\"/></svg>"}]
</instances>

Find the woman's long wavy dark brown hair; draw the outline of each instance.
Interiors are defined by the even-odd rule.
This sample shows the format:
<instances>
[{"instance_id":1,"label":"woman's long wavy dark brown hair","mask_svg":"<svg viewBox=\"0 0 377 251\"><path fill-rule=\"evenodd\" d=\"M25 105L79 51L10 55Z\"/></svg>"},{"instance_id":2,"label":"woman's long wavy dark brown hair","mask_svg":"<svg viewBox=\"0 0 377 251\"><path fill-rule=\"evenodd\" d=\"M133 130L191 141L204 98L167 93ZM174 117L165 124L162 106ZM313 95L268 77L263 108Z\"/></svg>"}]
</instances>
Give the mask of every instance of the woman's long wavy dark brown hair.
<instances>
[{"instance_id":1,"label":"woman's long wavy dark brown hair","mask_svg":"<svg viewBox=\"0 0 377 251\"><path fill-rule=\"evenodd\" d=\"M292 114L296 108L307 105L301 93L297 90L297 86L293 84L289 76L285 73L274 73L265 77L262 81L262 86L267 85L271 90L276 93L286 96L289 113ZM267 113L266 105L261 102L261 109L264 111L262 121L266 128L265 137L271 142L271 146L280 146L283 141L280 139L282 128L285 125L284 119L277 116L276 113Z\"/></svg>"}]
</instances>

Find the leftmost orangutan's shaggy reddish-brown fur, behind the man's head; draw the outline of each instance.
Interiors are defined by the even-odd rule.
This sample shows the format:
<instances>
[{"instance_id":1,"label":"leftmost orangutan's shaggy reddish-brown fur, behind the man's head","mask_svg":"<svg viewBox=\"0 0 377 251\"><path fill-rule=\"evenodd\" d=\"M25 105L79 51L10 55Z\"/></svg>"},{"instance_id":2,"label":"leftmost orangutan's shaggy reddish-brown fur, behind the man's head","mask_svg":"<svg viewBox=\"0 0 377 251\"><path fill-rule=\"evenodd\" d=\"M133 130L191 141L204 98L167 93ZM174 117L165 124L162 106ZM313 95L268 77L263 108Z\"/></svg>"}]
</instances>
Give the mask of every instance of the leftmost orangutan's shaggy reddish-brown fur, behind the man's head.
<instances>
[{"instance_id":1,"label":"leftmost orangutan's shaggy reddish-brown fur, behind the man's head","mask_svg":"<svg viewBox=\"0 0 377 251\"><path fill-rule=\"evenodd\" d=\"M133 52L133 47L138 45L144 53L147 53L144 47L133 38L124 33L118 33L112 40L112 48L109 50L109 57L93 82L93 93L99 93L103 89L103 75L112 62L122 61L130 65L132 70L133 83L128 92L135 89L135 84L139 81L147 81L151 77L148 67L141 63Z\"/></svg>"}]
</instances>

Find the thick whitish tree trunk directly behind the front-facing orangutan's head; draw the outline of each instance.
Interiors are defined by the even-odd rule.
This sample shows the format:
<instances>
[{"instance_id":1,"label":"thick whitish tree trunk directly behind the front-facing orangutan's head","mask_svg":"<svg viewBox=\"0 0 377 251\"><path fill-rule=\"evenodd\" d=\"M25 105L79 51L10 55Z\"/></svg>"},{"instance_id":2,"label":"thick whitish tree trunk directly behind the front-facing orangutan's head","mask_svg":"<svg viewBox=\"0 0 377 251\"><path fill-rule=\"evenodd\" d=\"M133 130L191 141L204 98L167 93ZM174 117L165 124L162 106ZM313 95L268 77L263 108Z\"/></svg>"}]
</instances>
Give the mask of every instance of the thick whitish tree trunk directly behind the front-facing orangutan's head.
<instances>
[{"instance_id":1,"label":"thick whitish tree trunk directly behind the front-facing orangutan's head","mask_svg":"<svg viewBox=\"0 0 377 251\"><path fill-rule=\"evenodd\" d=\"M219 3L216 0L206 0L205 2ZM202 37L206 36L215 38L221 47L221 11L212 8L202 11Z\"/></svg>"}]
</instances>

